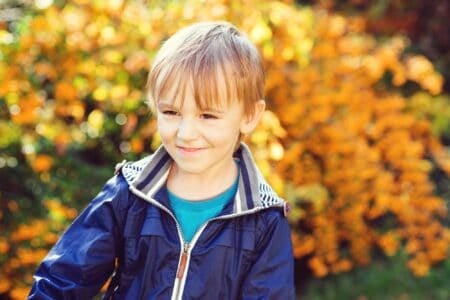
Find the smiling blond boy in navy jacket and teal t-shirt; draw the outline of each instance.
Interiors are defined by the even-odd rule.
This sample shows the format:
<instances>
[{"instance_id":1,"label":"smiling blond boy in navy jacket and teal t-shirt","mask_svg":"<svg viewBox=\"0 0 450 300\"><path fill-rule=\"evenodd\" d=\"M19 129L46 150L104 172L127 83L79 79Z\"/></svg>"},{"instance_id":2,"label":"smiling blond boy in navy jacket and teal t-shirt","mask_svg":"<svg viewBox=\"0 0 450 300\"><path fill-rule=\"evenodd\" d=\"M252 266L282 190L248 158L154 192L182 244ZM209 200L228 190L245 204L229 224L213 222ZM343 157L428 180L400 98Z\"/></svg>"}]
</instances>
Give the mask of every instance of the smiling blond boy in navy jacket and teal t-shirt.
<instances>
[{"instance_id":1,"label":"smiling blond boy in navy jacket and teal t-shirt","mask_svg":"<svg viewBox=\"0 0 450 300\"><path fill-rule=\"evenodd\" d=\"M294 299L285 203L241 137L265 108L256 48L226 22L173 35L148 78L163 145L117 168L34 276L30 299Z\"/></svg>"}]
</instances>

